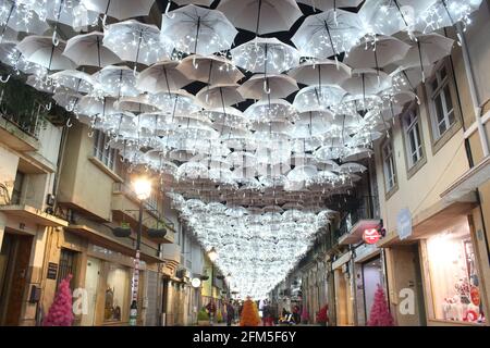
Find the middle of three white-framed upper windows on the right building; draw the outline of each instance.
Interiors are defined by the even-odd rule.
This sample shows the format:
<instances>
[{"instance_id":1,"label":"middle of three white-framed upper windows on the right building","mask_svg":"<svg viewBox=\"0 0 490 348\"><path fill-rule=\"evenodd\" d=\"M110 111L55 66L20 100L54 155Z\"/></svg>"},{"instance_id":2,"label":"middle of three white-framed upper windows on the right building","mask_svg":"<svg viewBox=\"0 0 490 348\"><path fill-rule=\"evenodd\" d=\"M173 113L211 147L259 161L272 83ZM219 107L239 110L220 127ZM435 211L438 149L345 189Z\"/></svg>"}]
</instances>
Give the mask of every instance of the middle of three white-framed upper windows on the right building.
<instances>
[{"instance_id":1,"label":"middle of three white-framed upper windows on the right building","mask_svg":"<svg viewBox=\"0 0 490 348\"><path fill-rule=\"evenodd\" d=\"M408 169L412 169L424 157L420 123L417 107L414 104L403 115L403 128L405 132L405 149L408 159Z\"/></svg>"}]
</instances>

